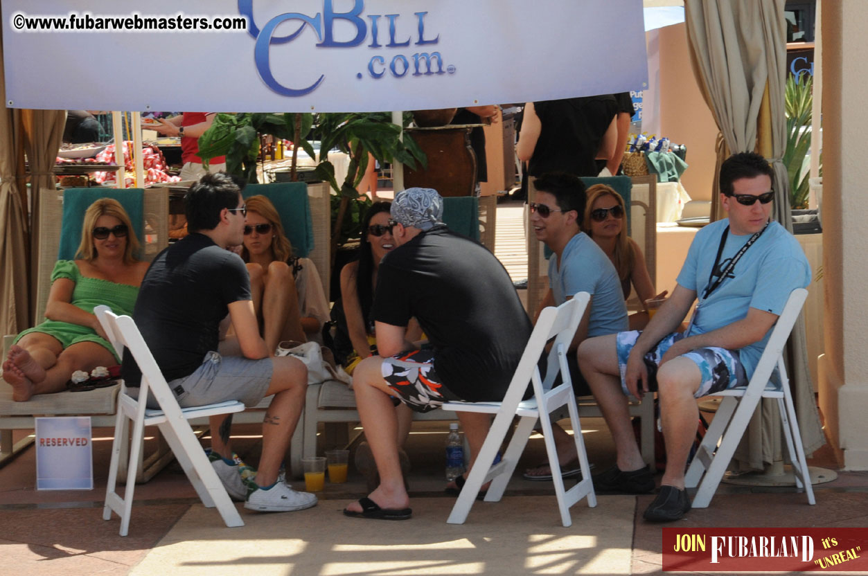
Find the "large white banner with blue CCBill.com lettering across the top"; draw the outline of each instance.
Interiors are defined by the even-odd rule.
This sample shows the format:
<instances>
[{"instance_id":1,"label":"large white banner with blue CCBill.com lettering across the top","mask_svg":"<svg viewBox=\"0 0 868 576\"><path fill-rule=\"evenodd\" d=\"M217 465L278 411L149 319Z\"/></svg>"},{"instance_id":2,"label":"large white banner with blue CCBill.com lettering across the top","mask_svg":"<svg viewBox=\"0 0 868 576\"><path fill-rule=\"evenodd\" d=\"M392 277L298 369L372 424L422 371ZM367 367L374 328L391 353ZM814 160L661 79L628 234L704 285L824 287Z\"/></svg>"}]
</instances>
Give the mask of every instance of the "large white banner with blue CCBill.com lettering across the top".
<instances>
[{"instance_id":1,"label":"large white banner with blue CCBill.com lettering across the top","mask_svg":"<svg viewBox=\"0 0 868 576\"><path fill-rule=\"evenodd\" d=\"M640 90L648 77L641 0L83 6L3 0L7 106L409 110Z\"/></svg>"}]
</instances>

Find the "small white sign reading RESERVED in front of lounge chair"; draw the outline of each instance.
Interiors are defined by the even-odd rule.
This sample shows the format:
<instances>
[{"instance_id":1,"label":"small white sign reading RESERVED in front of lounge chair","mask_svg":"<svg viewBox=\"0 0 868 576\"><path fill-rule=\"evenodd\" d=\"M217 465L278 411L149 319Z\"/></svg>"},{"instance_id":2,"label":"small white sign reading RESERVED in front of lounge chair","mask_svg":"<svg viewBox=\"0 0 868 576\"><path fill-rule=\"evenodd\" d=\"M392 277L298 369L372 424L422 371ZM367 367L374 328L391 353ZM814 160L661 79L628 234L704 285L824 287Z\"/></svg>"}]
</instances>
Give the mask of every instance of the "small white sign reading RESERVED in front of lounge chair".
<instances>
[{"instance_id":1,"label":"small white sign reading RESERVED in front of lounge chair","mask_svg":"<svg viewBox=\"0 0 868 576\"><path fill-rule=\"evenodd\" d=\"M90 416L36 418L36 489L93 488Z\"/></svg>"}]
</instances>

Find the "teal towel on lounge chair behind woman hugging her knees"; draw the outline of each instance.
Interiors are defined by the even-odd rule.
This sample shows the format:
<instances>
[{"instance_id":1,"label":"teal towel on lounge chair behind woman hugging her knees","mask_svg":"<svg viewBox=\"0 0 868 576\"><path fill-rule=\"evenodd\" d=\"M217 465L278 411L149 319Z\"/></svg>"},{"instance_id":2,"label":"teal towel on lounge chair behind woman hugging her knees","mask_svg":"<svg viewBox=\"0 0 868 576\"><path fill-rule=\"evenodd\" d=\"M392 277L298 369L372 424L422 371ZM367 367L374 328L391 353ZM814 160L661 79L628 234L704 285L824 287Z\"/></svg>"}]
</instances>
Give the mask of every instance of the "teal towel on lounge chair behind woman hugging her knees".
<instances>
[{"instance_id":1,"label":"teal towel on lounge chair behind woman hugging her knees","mask_svg":"<svg viewBox=\"0 0 868 576\"><path fill-rule=\"evenodd\" d=\"M293 254L306 258L313 250L313 219L304 182L250 184L244 189L245 198L262 194L277 208L286 238L293 245Z\"/></svg>"}]
</instances>

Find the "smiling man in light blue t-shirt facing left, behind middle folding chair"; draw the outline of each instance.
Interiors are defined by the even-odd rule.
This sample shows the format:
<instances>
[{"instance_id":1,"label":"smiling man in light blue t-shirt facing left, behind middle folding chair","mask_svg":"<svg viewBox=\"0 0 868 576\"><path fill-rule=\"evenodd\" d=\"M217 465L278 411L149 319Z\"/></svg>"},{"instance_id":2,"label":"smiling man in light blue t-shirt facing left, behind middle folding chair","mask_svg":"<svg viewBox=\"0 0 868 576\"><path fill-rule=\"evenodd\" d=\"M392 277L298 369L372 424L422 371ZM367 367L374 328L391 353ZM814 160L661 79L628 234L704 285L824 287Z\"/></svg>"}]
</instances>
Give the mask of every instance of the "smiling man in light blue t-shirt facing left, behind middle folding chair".
<instances>
[{"instance_id":1,"label":"smiling man in light blue t-shirt facing left, behind middle folding chair","mask_svg":"<svg viewBox=\"0 0 868 576\"><path fill-rule=\"evenodd\" d=\"M582 180L568 173L547 173L535 180L534 187L536 202L530 204L530 226L536 239L554 252L549 259L549 291L536 317L546 306L563 304L578 292L591 295L589 312L582 317L567 356L576 396L589 396L591 391L579 370L575 350L587 337L628 329L621 280L606 252L579 227L586 201ZM552 429L562 475L580 475L572 437L557 425ZM529 468L524 477L551 480L549 464Z\"/></svg>"}]
</instances>

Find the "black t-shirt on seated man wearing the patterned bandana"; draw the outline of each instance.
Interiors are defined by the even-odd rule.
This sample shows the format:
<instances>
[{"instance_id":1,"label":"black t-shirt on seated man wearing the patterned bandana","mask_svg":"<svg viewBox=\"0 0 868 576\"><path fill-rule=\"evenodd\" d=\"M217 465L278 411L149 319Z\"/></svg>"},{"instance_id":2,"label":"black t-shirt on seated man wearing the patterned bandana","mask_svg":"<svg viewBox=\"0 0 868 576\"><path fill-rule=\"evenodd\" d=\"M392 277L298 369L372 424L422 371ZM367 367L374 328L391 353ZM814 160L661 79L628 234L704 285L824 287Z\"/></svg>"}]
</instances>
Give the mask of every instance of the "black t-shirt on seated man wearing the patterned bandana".
<instances>
[{"instance_id":1,"label":"black t-shirt on seated man wearing the patterned bandana","mask_svg":"<svg viewBox=\"0 0 868 576\"><path fill-rule=\"evenodd\" d=\"M470 402L503 400L531 331L500 261L446 226L386 254L372 316L394 326L415 316L444 385Z\"/></svg>"}]
</instances>

